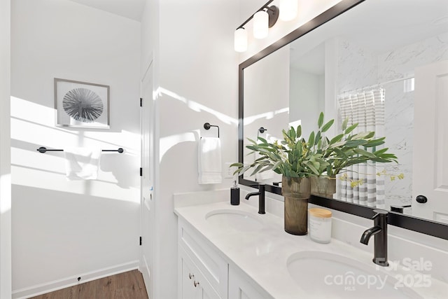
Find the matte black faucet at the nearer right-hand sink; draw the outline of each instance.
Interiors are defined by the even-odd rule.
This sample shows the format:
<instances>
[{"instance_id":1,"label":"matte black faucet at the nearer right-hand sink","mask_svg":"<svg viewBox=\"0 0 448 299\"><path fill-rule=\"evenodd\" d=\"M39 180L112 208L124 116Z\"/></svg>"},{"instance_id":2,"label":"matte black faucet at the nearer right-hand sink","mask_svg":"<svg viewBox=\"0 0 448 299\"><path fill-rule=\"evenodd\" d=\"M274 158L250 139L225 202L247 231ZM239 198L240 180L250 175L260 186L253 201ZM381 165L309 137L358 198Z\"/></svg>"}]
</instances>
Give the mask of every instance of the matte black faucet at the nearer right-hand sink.
<instances>
[{"instance_id":1,"label":"matte black faucet at the nearer right-hand sink","mask_svg":"<svg viewBox=\"0 0 448 299\"><path fill-rule=\"evenodd\" d=\"M372 217L374 226L365 230L361 236L360 242L367 245L370 237L375 236L374 239L374 256L373 263L387 267L389 265L387 261L387 215L388 211L381 209L375 209Z\"/></svg>"}]
</instances>

